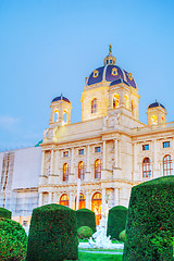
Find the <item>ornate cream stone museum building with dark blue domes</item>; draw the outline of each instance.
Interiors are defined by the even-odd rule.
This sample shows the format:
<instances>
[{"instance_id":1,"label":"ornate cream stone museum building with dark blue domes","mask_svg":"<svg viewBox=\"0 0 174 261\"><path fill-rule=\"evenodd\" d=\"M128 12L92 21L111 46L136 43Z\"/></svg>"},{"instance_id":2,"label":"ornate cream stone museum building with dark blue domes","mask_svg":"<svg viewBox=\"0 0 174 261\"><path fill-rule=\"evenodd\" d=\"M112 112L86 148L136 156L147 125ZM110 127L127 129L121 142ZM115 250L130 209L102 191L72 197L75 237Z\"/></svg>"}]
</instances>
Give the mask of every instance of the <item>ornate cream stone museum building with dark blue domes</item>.
<instances>
[{"instance_id":1,"label":"ornate cream stone museum building with dark blue domes","mask_svg":"<svg viewBox=\"0 0 174 261\"><path fill-rule=\"evenodd\" d=\"M108 209L128 207L133 186L172 175L174 122L166 123L166 110L158 101L147 108L147 124L139 122L139 98L133 74L117 66L110 46L103 66L85 78L82 122L71 123L72 103L61 95L50 104L50 123L40 147L20 151L27 164L23 159L16 169L15 150L0 153L3 206L7 191L15 191L13 202L9 196L9 209L16 209L18 197L23 203L28 198L25 206L32 206L25 207L27 214L12 210L13 219L28 221L33 208L47 203L76 209L80 179L78 208L92 210L98 224ZM28 156L35 152L28 159L25 150ZM15 172L10 166L7 172L7 154L12 154ZM24 165L28 169L22 172Z\"/></svg>"}]
</instances>

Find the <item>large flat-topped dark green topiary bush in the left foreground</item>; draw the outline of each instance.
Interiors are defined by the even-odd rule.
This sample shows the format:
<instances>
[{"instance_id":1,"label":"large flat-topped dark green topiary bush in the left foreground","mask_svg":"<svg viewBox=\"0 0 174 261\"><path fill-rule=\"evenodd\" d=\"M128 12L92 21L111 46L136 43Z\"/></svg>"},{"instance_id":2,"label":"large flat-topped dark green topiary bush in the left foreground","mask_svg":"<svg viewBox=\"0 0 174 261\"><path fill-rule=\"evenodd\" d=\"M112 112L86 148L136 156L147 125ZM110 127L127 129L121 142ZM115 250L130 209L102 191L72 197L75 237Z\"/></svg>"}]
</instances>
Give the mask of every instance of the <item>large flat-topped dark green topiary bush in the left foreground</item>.
<instances>
[{"instance_id":1,"label":"large flat-topped dark green topiary bush in the left foreground","mask_svg":"<svg viewBox=\"0 0 174 261\"><path fill-rule=\"evenodd\" d=\"M62 261L78 258L76 213L61 204L33 210L27 261Z\"/></svg>"}]
</instances>

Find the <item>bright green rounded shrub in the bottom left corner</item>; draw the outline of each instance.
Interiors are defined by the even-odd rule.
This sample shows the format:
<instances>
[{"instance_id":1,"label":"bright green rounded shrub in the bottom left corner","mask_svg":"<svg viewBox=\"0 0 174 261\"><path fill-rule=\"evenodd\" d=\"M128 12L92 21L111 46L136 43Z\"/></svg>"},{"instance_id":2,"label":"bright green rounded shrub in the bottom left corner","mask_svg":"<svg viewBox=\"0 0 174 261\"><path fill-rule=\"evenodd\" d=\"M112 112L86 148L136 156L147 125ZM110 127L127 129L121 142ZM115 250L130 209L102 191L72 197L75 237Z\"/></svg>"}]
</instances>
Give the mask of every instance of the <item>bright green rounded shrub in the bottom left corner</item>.
<instances>
[{"instance_id":1,"label":"bright green rounded shrub in the bottom left corner","mask_svg":"<svg viewBox=\"0 0 174 261\"><path fill-rule=\"evenodd\" d=\"M0 260L25 260L27 249L27 235L20 223L0 219Z\"/></svg>"}]
</instances>

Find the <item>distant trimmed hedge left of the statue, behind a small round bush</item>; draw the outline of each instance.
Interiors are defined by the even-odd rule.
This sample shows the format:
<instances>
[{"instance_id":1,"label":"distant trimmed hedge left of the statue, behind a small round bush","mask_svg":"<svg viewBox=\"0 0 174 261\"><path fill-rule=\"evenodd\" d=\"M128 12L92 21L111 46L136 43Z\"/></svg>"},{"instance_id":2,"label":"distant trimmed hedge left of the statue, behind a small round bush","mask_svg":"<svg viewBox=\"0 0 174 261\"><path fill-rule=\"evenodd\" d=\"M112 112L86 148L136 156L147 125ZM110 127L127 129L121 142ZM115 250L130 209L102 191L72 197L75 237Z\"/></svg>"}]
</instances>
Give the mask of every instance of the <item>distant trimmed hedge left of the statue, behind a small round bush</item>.
<instances>
[{"instance_id":1,"label":"distant trimmed hedge left of the statue, behind a small round bush","mask_svg":"<svg viewBox=\"0 0 174 261\"><path fill-rule=\"evenodd\" d=\"M80 226L89 226L92 232L96 232L95 212L88 209L76 210L77 228Z\"/></svg>"}]
</instances>

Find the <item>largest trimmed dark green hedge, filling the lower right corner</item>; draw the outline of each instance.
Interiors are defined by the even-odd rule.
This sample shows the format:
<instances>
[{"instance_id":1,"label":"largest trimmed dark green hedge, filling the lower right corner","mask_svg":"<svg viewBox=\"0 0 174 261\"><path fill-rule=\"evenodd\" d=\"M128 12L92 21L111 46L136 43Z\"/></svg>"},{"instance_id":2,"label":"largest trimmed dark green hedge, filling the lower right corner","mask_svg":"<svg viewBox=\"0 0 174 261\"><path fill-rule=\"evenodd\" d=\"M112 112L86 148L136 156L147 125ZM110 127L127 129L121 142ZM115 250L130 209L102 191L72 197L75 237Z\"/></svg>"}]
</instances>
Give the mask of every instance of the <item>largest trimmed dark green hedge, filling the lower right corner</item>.
<instances>
[{"instance_id":1,"label":"largest trimmed dark green hedge, filling the lower right corner","mask_svg":"<svg viewBox=\"0 0 174 261\"><path fill-rule=\"evenodd\" d=\"M126 224L125 261L173 260L174 176L132 188Z\"/></svg>"}]
</instances>

